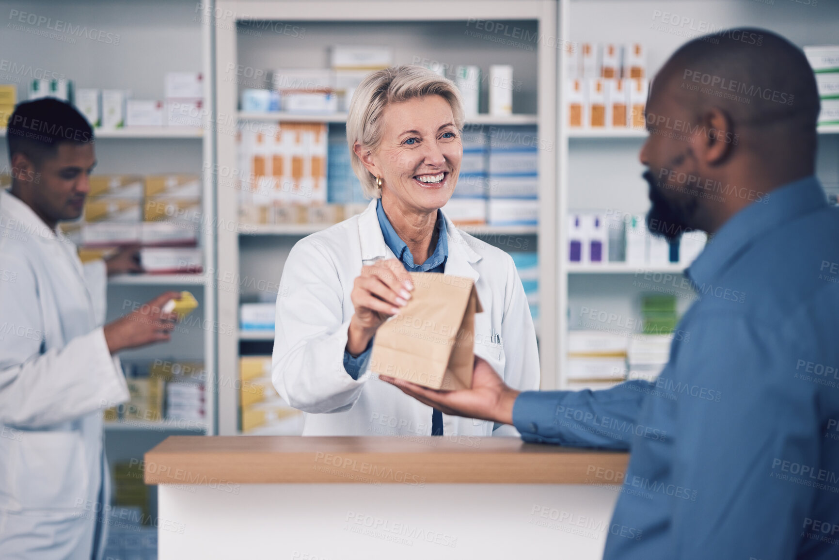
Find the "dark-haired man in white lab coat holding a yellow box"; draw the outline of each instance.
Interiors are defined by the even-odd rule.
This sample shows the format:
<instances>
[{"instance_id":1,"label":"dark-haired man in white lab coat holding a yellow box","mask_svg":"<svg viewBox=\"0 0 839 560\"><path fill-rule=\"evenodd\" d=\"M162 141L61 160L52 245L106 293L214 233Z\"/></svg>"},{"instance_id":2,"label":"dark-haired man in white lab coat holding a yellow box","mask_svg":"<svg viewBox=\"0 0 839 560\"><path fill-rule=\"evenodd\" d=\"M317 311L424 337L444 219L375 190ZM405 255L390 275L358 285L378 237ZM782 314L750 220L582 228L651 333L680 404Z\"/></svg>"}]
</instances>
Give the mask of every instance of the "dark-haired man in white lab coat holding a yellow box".
<instances>
[{"instance_id":1,"label":"dark-haired man in white lab coat holding a yellow box","mask_svg":"<svg viewBox=\"0 0 839 560\"><path fill-rule=\"evenodd\" d=\"M9 118L13 182L0 191L0 556L100 557L108 476L102 410L128 400L120 350L168 341L167 292L102 326L106 275L136 249L82 265L58 230L81 216L96 165L90 125L68 103Z\"/></svg>"}]
</instances>

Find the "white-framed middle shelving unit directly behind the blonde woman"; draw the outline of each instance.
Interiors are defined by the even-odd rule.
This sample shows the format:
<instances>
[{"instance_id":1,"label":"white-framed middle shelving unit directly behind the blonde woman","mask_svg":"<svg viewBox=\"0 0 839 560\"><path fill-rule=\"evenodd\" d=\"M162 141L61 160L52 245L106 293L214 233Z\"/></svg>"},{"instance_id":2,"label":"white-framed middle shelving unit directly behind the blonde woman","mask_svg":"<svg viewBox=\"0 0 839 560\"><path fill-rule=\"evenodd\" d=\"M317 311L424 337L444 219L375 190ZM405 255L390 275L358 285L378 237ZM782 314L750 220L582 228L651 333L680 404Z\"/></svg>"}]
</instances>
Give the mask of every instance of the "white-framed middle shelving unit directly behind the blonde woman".
<instances>
[{"instance_id":1,"label":"white-framed middle shelving unit directly behind the blonde woman","mask_svg":"<svg viewBox=\"0 0 839 560\"><path fill-rule=\"evenodd\" d=\"M216 13L232 14L216 24L216 102L219 114L234 114L242 121L320 122L340 127L346 114L290 115L283 113L237 113L238 86L231 69L279 67L327 67L328 47L332 44L387 44L393 47L394 62L416 63L423 58L444 63L479 64L486 71L490 64L513 64L514 79L522 79L522 92L514 92L512 116L505 118L478 115L477 125L539 126L540 140L555 146L556 141L556 70L558 50L556 38L557 3L555 0L427 0L422 3L393 0L391 2L333 0L320 2L279 1L216 3ZM240 21L242 20L242 21ZM507 29L538 31L528 44L502 46L509 41L502 33L478 31L477 20L508 24ZM279 21L298 29L305 36L274 34L271 26L253 22ZM265 29L268 29L266 31ZM289 28L285 28L289 29ZM471 35L475 32L475 35ZM500 56L500 58L493 58ZM517 78L517 76L519 76ZM485 99L485 98L484 98ZM484 105L485 106L485 105ZM237 166L236 139L230 134L217 134L219 170ZM538 228L466 228L478 236L493 233L523 236L539 250L540 285L540 348L543 387L556 386L555 345L557 338L556 285L556 157L550 150L539 154ZM220 181L221 182L221 181ZM328 187L327 187L328 188ZM218 219L237 220L237 192L232 188L217 189ZM312 226L248 227L247 234L220 230L218 233L218 270L221 275L236 271L238 275L257 275L279 284L282 263L289 249L301 237L317 231ZM239 278L239 276L237 276ZM218 285L218 321L237 322L241 282ZM262 338L261 341L254 340ZM237 394L234 390L238 372L240 343L268 344L272 333L242 333L220 336L218 346L218 426L221 434L237 433ZM269 347L268 347L269 348ZM270 350L268 349L268 352Z\"/></svg>"}]
</instances>

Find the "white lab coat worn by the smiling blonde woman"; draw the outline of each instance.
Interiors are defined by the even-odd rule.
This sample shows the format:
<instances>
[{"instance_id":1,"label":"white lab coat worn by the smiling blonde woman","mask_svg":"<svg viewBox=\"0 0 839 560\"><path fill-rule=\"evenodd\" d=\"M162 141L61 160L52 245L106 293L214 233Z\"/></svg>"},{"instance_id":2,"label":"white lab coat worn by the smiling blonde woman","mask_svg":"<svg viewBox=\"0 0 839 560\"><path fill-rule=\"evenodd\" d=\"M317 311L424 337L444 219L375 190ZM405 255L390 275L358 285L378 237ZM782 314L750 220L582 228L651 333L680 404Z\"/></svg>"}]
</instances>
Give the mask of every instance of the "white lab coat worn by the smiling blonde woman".
<instances>
[{"instance_id":1,"label":"white lab coat worn by the smiling blonde woman","mask_svg":"<svg viewBox=\"0 0 839 560\"><path fill-rule=\"evenodd\" d=\"M475 280L483 312L475 316L475 353L519 390L539 389L536 335L513 259L456 229L446 217L446 274ZM350 299L362 259L393 252L384 242L376 201L357 216L294 245L277 297L272 376L279 395L305 411L311 436L430 436L430 406L404 395L369 369L352 379L344 369ZM493 329L502 343L492 342ZM494 428L494 429L493 429ZM517 436L510 426L443 415L449 437Z\"/></svg>"}]
</instances>

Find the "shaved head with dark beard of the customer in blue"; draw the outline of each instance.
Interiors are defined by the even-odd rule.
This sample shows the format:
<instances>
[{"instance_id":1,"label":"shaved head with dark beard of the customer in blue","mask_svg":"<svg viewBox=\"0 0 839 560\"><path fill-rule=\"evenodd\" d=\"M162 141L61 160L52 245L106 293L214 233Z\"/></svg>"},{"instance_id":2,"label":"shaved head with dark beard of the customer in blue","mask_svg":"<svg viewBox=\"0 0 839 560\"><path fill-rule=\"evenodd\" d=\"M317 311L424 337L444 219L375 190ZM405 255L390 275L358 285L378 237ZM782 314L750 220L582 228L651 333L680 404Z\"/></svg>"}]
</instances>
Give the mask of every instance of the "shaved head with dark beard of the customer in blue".
<instances>
[{"instance_id":1,"label":"shaved head with dark beard of the customer in blue","mask_svg":"<svg viewBox=\"0 0 839 560\"><path fill-rule=\"evenodd\" d=\"M779 34L725 29L682 45L655 76L647 102L650 138L641 157L649 230L671 239L692 229L714 233L751 201L706 196L717 186L767 200L813 175L820 106L804 52Z\"/></svg>"}]
</instances>

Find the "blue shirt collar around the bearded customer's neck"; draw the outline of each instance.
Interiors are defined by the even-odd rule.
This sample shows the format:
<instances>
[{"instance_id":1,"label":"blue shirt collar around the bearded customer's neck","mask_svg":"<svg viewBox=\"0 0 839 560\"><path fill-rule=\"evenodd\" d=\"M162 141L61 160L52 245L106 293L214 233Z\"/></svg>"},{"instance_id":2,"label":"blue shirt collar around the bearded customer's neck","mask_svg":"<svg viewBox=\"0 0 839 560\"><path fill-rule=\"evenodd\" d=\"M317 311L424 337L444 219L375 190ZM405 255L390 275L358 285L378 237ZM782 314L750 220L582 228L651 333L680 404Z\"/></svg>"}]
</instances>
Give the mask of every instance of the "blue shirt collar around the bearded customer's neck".
<instances>
[{"instance_id":1,"label":"blue shirt collar around the bearded customer's neck","mask_svg":"<svg viewBox=\"0 0 839 560\"><path fill-rule=\"evenodd\" d=\"M826 206L825 192L813 175L781 186L729 218L685 274L695 285L709 283L764 233Z\"/></svg>"}]
</instances>

